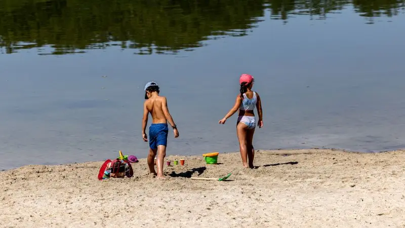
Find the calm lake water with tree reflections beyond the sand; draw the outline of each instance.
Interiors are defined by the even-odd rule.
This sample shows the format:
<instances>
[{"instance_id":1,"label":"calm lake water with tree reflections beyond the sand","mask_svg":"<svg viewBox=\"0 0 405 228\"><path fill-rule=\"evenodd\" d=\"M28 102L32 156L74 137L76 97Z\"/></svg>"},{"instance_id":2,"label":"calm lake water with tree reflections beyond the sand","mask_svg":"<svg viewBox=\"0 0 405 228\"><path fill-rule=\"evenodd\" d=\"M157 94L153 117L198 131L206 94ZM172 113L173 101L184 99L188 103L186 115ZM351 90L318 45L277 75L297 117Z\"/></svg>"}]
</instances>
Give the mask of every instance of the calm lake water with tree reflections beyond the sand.
<instances>
[{"instance_id":1,"label":"calm lake water with tree reflections beyond the sand","mask_svg":"<svg viewBox=\"0 0 405 228\"><path fill-rule=\"evenodd\" d=\"M405 1L0 0L0 169L146 157L144 85L179 127L168 154L238 149L255 76L255 147L405 147ZM150 123L150 122L149 122Z\"/></svg>"}]
</instances>

